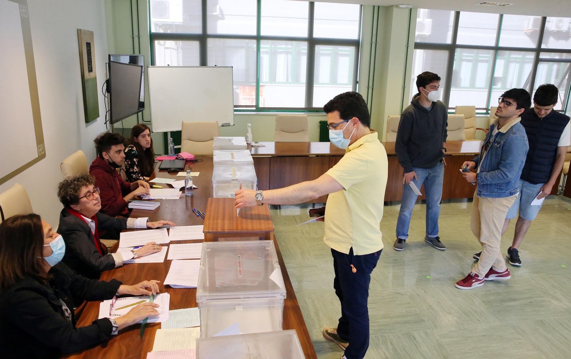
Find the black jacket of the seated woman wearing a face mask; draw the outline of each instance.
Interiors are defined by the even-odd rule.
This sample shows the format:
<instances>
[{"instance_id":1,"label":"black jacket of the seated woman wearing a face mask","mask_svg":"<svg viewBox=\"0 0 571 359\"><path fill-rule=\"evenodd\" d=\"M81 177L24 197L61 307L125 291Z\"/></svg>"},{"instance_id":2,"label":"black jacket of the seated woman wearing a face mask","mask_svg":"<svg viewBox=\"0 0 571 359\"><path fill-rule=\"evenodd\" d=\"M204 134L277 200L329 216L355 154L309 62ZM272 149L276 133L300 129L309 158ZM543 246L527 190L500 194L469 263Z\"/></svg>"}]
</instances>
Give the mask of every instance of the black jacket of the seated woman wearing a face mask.
<instances>
[{"instance_id":1,"label":"black jacket of the seated woman wearing a face mask","mask_svg":"<svg viewBox=\"0 0 571 359\"><path fill-rule=\"evenodd\" d=\"M86 279L63 263L51 268L49 275L49 285L26 277L0 292L3 358L55 358L99 344L111 336L108 318L75 328L71 298L111 299L122 284L120 281ZM66 320L60 300L70 309L71 322Z\"/></svg>"}]
</instances>

